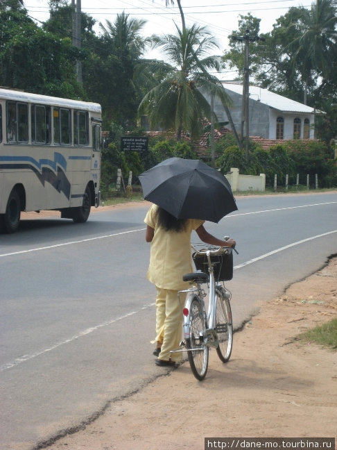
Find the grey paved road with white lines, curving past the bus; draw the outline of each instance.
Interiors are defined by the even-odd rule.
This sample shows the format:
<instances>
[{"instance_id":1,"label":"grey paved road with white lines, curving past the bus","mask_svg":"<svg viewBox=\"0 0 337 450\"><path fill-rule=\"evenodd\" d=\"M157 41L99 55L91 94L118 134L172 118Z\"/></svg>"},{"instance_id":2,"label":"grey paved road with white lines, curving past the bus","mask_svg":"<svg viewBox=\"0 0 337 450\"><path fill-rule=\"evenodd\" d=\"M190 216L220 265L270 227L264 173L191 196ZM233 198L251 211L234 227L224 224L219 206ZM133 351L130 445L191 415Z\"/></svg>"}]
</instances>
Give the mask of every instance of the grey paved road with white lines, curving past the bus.
<instances>
[{"instance_id":1,"label":"grey paved road with white lines, curving past the bus","mask_svg":"<svg viewBox=\"0 0 337 450\"><path fill-rule=\"evenodd\" d=\"M209 232L238 242L234 328L257 301L337 253L337 195L239 197ZM93 213L87 224L24 221L0 235L0 449L37 448L76 429L163 370L153 364L155 290L146 281L148 206ZM197 242L197 236L193 235Z\"/></svg>"}]
</instances>

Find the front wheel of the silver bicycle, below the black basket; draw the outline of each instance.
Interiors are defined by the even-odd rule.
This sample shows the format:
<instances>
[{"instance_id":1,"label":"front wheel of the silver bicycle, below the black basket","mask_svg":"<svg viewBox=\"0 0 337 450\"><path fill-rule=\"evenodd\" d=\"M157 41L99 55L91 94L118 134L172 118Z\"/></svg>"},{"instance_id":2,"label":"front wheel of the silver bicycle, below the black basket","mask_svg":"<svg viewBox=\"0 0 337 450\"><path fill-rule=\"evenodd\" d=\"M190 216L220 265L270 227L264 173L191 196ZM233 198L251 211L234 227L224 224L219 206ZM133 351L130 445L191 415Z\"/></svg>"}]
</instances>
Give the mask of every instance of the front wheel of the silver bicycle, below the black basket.
<instances>
[{"instance_id":1,"label":"front wheel of the silver bicycle, below the black basket","mask_svg":"<svg viewBox=\"0 0 337 450\"><path fill-rule=\"evenodd\" d=\"M233 346L232 310L230 300L221 291L216 296L216 333L219 341L216 352L221 361L227 363Z\"/></svg>"}]
</instances>

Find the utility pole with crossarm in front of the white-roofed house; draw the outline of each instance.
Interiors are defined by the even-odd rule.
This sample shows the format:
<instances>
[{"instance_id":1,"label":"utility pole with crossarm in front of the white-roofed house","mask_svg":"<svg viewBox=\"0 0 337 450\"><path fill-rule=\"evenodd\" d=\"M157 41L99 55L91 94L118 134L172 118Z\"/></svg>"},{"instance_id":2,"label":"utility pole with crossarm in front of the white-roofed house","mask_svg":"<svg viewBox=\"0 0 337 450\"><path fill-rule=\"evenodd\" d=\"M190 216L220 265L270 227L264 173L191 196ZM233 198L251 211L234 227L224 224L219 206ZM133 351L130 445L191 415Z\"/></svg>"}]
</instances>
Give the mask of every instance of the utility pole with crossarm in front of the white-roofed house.
<instances>
[{"instance_id":1,"label":"utility pole with crossarm in front of the white-roofed house","mask_svg":"<svg viewBox=\"0 0 337 450\"><path fill-rule=\"evenodd\" d=\"M249 159L249 43L257 40L266 40L259 36L250 36L249 30L245 30L245 35L232 35L230 38L234 41L245 42L245 66L243 69L243 90L242 90L242 108L241 108L241 144L245 137L245 159Z\"/></svg>"}]
</instances>

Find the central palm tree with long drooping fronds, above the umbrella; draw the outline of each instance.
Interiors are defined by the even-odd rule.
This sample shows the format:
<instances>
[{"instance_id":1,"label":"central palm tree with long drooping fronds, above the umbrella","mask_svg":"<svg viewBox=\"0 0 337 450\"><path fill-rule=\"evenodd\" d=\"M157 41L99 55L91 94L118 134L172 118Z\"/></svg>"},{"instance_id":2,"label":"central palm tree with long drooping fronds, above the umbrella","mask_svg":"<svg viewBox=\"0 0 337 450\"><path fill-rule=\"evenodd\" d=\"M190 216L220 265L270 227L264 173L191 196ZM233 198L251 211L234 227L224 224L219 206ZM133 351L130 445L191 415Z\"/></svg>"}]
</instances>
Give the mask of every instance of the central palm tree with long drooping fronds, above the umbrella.
<instances>
[{"instance_id":1,"label":"central palm tree with long drooping fronds, above the umbrella","mask_svg":"<svg viewBox=\"0 0 337 450\"><path fill-rule=\"evenodd\" d=\"M139 113L146 114L150 126L174 130L178 140L182 131L198 138L202 124L211 119L209 102L205 94L211 93L221 99L224 105L230 103L218 78L209 70L219 71L220 61L208 56L218 47L205 27L194 24L180 30L176 35L153 36L155 46L161 47L172 63L171 70L161 83L145 95L139 105Z\"/></svg>"}]
</instances>

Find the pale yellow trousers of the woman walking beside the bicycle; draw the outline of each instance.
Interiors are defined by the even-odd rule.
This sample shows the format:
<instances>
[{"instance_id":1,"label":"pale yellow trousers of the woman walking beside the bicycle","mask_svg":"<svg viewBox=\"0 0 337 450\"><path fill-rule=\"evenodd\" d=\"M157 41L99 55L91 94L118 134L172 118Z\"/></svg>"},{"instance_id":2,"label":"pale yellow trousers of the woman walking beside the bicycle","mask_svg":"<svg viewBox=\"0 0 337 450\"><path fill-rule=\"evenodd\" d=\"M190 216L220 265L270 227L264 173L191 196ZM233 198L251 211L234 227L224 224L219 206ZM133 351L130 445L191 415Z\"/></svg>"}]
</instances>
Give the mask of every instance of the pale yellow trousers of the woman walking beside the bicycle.
<instances>
[{"instance_id":1,"label":"pale yellow trousers of the woman walking beside the bicycle","mask_svg":"<svg viewBox=\"0 0 337 450\"><path fill-rule=\"evenodd\" d=\"M182 310L185 298L186 292L182 292L178 297L176 290L157 288L155 340L162 342L162 350L159 353L161 360L182 360L182 353L170 351L177 349L182 340Z\"/></svg>"}]
</instances>

